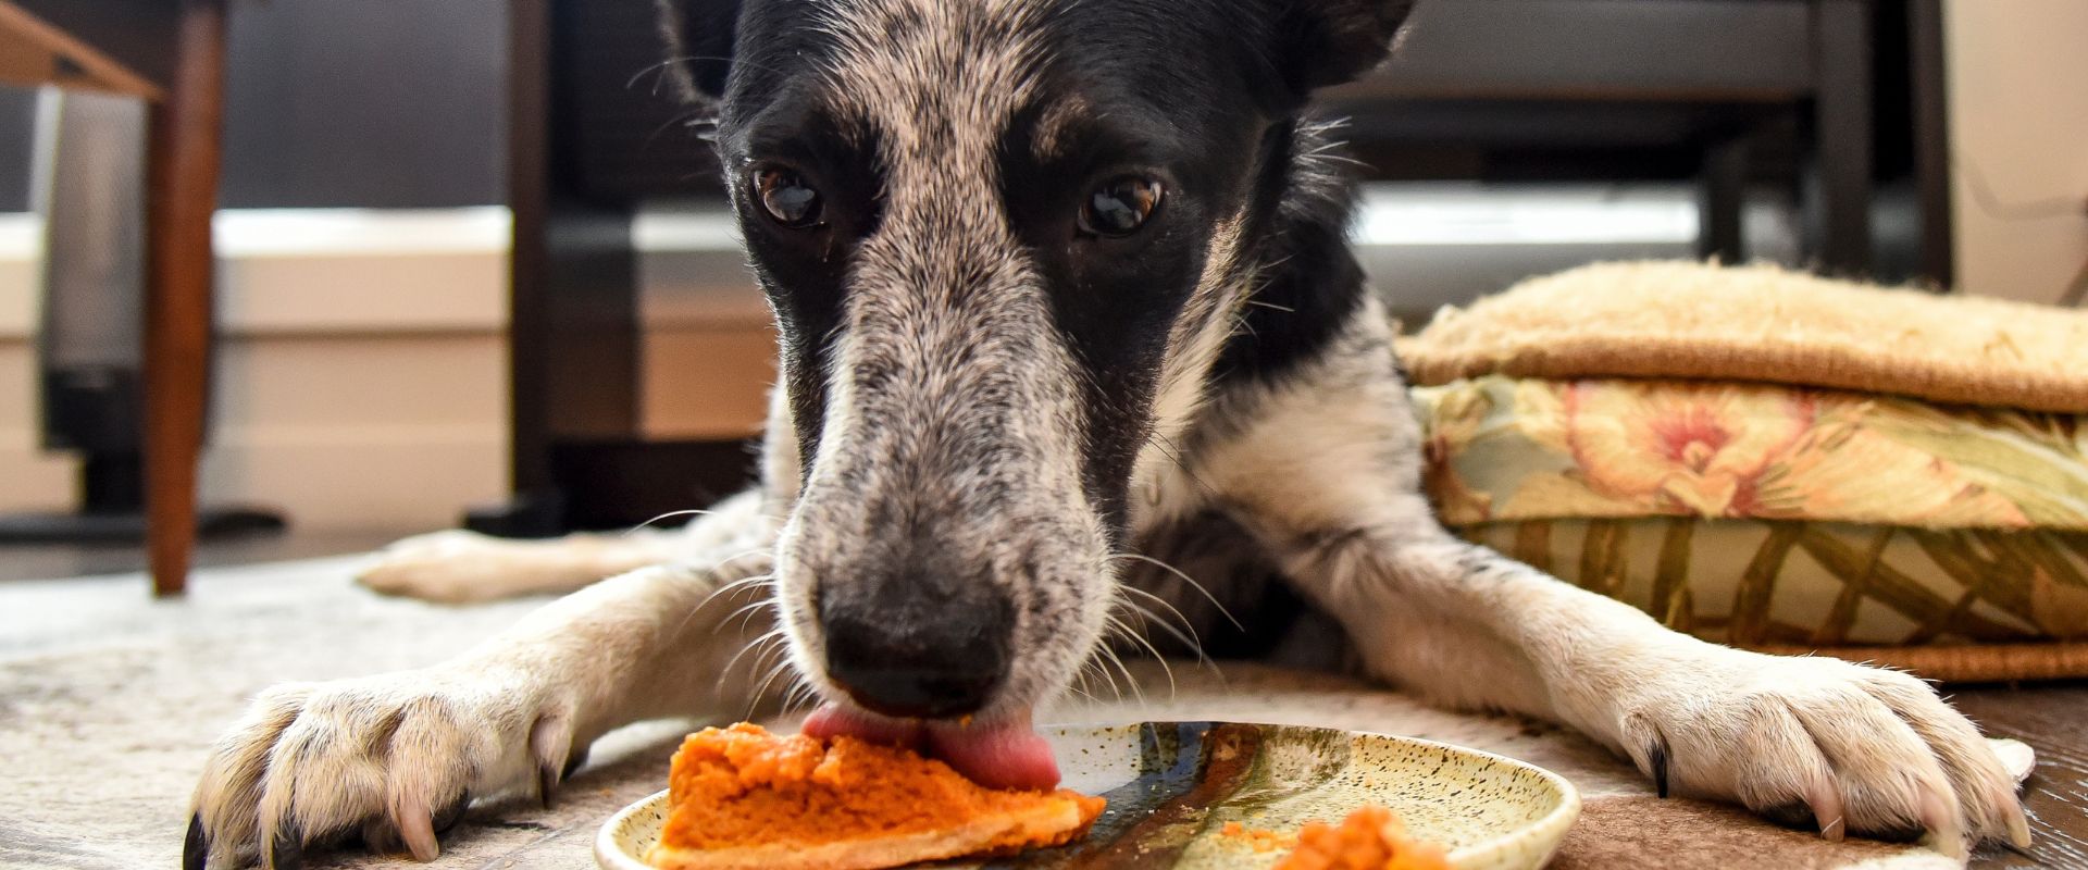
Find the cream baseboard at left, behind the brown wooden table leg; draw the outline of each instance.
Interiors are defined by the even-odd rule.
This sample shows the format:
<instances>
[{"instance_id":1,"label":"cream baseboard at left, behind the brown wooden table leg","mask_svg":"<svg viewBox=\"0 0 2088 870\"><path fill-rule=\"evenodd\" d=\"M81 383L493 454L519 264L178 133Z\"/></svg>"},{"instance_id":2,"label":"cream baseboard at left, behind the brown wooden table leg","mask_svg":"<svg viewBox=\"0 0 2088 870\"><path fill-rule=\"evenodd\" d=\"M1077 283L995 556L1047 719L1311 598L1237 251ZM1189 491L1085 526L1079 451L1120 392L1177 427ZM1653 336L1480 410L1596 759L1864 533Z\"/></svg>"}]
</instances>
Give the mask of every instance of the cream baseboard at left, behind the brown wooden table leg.
<instances>
[{"instance_id":1,"label":"cream baseboard at left, behind the brown wooden table leg","mask_svg":"<svg viewBox=\"0 0 2088 870\"><path fill-rule=\"evenodd\" d=\"M217 215L203 499L296 528L436 528L507 492L507 211ZM42 229L0 215L0 511L69 509L38 444Z\"/></svg>"}]
</instances>

